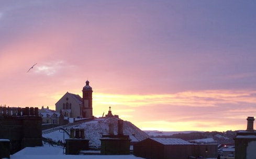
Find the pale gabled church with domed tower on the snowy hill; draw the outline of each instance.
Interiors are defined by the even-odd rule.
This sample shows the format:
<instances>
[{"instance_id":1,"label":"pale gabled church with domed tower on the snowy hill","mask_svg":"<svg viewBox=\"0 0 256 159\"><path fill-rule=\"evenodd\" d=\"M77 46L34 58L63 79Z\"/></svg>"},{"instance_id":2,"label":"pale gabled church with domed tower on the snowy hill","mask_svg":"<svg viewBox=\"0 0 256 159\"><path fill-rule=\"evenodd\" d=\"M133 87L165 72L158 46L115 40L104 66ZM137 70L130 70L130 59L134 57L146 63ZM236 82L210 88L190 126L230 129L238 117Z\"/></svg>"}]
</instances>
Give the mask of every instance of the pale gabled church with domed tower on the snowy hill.
<instances>
[{"instance_id":1,"label":"pale gabled church with domed tower on the snowy hill","mask_svg":"<svg viewBox=\"0 0 256 159\"><path fill-rule=\"evenodd\" d=\"M66 92L55 104L55 110L69 118L93 118L93 90L87 80L83 87L83 97Z\"/></svg>"}]
</instances>

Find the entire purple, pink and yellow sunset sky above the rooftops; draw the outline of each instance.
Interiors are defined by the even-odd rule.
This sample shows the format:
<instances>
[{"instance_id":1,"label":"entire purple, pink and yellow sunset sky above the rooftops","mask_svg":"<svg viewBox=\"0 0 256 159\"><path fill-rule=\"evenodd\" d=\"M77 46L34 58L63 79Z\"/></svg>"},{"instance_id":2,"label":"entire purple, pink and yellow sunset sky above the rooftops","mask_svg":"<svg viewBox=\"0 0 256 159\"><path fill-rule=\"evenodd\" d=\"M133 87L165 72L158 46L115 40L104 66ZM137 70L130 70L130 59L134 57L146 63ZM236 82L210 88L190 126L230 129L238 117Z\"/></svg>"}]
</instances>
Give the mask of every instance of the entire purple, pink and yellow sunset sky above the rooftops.
<instances>
[{"instance_id":1,"label":"entire purple, pink and yellow sunset sky above the rooftops","mask_svg":"<svg viewBox=\"0 0 256 159\"><path fill-rule=\"evenodd\" d=\"M55 109L89 80L94 116L111 106L142 130L244 130L256 114L255 1L0 4L2 105Z\"/></svg>"}]
</instances>

